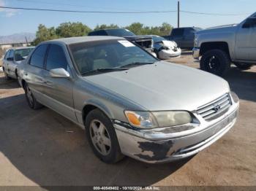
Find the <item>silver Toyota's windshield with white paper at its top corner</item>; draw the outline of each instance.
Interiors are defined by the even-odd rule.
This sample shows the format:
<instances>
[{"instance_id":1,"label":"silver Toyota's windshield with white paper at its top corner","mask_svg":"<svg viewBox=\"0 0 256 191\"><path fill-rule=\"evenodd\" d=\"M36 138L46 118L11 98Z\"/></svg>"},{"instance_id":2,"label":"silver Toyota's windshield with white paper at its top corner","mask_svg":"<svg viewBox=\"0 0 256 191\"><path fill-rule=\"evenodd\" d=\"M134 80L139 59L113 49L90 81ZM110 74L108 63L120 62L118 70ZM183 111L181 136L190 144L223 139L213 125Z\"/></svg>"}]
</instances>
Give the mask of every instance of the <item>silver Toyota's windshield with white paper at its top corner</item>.
<instances>
[{"instance_id":1,"label":"silver Toyota's windshield with white paper at its top corner","mask_svg":"<svg viewBox=\"0 0 256 191\"><path fill-rule=\"evenodd\" d=\"M145 50L124 39L70 44L69 50L82 75L98 69L100 71L115 69L113 71L116 71L117 68L140 66L143 63L158 61Z\"/></svg>"}]
</instances>

